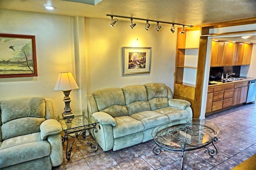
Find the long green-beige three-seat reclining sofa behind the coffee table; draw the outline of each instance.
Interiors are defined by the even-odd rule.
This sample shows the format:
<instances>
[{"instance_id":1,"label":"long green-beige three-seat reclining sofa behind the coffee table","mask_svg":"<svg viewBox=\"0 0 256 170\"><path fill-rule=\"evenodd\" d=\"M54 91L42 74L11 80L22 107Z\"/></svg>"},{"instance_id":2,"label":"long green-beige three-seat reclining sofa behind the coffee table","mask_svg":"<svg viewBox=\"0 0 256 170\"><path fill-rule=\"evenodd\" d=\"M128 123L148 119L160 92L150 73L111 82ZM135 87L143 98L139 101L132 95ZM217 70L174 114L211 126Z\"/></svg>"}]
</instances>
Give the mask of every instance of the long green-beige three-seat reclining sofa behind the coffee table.
<instances>
[{"instance_id":1,"label":"long green-beige three-seat reclining sofa behind the coffee table","mask_svg":"<svg viewBox=\"0 0 256 170\"><path fill-rule=\"evenodd\" d=\"M94 135L104 151L152 140L156 126L192 118L190 103L173 99L171 89L162 83L94 91L88 95L88 113L99 122Z\"/></svg>"}]
</instances>

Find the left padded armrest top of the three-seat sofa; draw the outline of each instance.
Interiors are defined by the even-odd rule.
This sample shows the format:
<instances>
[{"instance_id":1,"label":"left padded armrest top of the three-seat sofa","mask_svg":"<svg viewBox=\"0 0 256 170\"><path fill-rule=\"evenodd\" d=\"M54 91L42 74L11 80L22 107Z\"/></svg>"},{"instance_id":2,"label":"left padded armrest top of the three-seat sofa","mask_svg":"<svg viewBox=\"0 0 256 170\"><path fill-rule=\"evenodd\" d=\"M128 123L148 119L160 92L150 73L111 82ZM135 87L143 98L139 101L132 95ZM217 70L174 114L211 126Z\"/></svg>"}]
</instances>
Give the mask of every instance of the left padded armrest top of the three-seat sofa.
<instances>
[{"instance_id":1,"label":"left padded armrest top of the three-seat sofa","mask_svg":"<svg viewBox=\"0 0 256 170\"><path fill-rule=\"evenodd\" d=\"M92 117L100 122L102 125L112 125L113 127L116 126L115 119L110 116L108 113L105 112L95 112L92 114Z\"/></svg>"}]
</instances>

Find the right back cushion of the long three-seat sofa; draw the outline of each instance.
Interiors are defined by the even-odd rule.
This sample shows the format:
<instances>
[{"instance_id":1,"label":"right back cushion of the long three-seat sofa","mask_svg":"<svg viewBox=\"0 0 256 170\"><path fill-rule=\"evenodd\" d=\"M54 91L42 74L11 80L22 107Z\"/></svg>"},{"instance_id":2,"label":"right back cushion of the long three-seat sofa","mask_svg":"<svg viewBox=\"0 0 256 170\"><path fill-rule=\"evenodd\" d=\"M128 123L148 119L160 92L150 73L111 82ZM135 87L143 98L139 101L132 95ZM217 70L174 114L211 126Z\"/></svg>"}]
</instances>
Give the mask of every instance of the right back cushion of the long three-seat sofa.
<instances>
[{"instance_id":1,"label":"right back cushion of the long three-seat sofa","mask_svg":"<svg viewBox=\"0 0 256 170\"><path fill-rule=\"evenodd\" d=\"M170 97L170 89L162 83L148 83L144 85L148 95L148 103L151 110L160 109L168 106L168 97Z\"/></svg>"}]
</instances>

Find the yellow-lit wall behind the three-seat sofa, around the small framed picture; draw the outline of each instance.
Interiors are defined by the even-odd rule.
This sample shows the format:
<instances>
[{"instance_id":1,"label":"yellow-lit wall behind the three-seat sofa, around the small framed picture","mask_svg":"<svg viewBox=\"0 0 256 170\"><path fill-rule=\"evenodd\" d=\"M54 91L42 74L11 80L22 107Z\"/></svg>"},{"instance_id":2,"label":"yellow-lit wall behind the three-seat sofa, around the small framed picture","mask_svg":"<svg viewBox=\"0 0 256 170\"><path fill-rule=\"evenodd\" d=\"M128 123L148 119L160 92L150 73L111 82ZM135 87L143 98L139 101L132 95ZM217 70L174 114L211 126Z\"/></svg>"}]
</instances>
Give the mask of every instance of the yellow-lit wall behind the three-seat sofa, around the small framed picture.
<instances>
[{"instance_id":1,"label":"yellow-lit wall behind the three-seat sofa, around the small framed picture","mask_svg":"<svg viewBox=\"0 0 256 170\"><path fill-rule=\"evenodd\" d=\"M136 23L130 29L130 21L118 21L114 28L111 20L86 18L86 67L88 93L108 87L143 85L150 82L174 86L175 51L177 33L170 26L156 31L156 23ZM122 75L122 47L152 47L151 72Z\"/></svg>"}]
</instances>

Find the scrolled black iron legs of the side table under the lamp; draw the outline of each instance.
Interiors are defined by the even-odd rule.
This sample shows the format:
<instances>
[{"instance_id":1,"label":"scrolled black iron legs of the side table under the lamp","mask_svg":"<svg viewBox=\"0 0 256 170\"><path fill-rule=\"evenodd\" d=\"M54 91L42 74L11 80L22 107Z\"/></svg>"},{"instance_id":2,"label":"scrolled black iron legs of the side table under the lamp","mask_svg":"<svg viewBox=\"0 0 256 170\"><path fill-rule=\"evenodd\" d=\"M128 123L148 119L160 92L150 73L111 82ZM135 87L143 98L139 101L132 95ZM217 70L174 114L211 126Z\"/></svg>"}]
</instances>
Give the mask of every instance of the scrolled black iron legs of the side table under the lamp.
<instances>
[{"instance_id":1,"label":"scrolled black iron legs of the side table under the lamp","mask_svg":"<svg viewBox=\"0 0 256 170\"><path fill-rule=\"evenodd\" d=\"M86 130L87 130L87 129L86 129ZM64 137L62 137L62 144L65 142L65 140L67 141L67 146L66 146L66 159L67 159L67 160L70 160L71 151L72 151L72 144L75 142L75 140L76 140L77 138L78 138L78 139L82 139L82 140L87 140L87 146L91 146L92 151L96 152L96 151L98 150L99 145L98 145L97 140L96 140L95 137L94 137L94 130L95 130L95 132L97 132L97 129L96 129L96 128L93 128L93 129L92 129L92 136L93 136L94 139L95 139L96 145L95 145L95 144L92 144L92 142L91 142L90 140L86 139L86 130L81 131L79 134L78 134L78 132L75 133L75 134L76 134L76 137L75 137L74 141L70 144L69 150L68 150L68 136L70 136L70 137L73 137L73 136L71 136L71 135L69 135L67 132L65 132ZM80 135L81 133L82 133L81 136L82 136L83 138L79 138L79 135Z\"/></svg>"}]
</instances>

